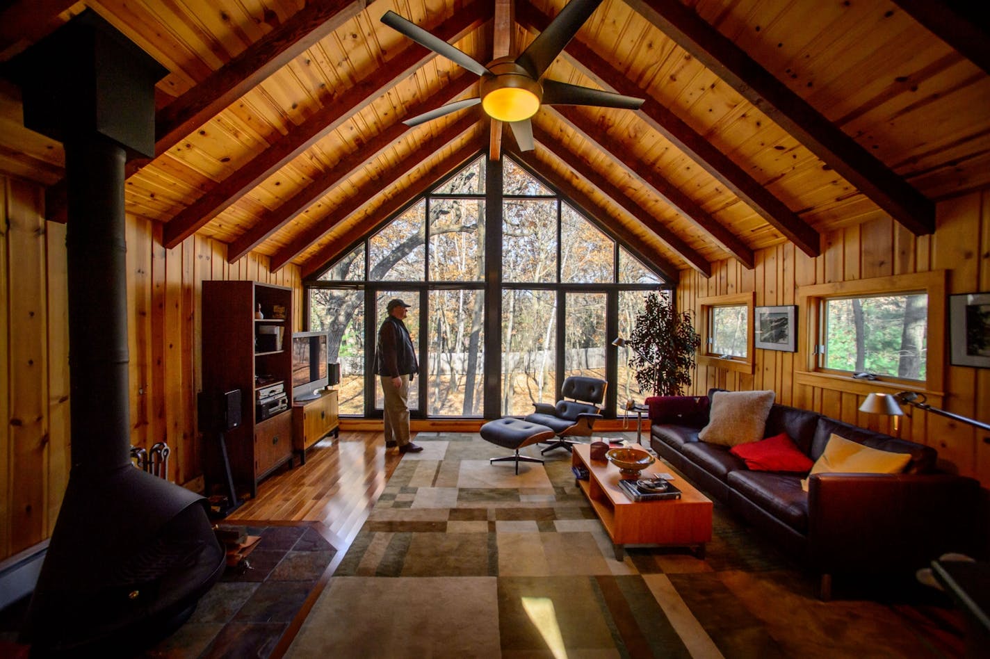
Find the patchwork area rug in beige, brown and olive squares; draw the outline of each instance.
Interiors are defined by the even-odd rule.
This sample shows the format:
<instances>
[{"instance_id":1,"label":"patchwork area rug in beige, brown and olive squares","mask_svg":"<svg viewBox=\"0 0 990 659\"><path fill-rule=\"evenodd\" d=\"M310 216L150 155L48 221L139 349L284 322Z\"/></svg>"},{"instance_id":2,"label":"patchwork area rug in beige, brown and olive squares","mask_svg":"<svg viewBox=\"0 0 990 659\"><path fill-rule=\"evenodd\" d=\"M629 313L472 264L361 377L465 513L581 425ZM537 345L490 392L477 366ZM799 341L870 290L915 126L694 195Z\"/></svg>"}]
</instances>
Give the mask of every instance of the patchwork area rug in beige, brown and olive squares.
<instances>
[{"instance_id":1,"label":"patchwork area rug in beige, brown and olive squares","mask_svg":"<svg viewBox=\"0 0 990 659\"><path fill-rule=\"evenodd\" d=\"M516 476L476 433L416 441L287 656L961 654L947 600L820 602L816 579L718 504L704 560L630 547L618 561L566 451Z\"/></svg>"}]
</instances>

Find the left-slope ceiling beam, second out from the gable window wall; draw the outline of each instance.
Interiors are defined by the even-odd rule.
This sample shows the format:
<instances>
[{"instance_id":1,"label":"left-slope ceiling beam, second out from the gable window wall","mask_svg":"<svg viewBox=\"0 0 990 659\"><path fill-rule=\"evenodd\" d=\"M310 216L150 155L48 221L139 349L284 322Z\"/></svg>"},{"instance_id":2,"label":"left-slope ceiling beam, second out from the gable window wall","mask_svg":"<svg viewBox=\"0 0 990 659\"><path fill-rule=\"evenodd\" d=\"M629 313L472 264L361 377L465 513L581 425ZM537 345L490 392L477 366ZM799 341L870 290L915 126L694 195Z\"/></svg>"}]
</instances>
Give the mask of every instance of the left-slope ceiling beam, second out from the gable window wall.
<instances>
[{"instance_id":1,"label":"left-slope ceiling beam, second out from the gable window wall","mask_svg":"<svg viewBox=\"0 0 990 659\"><path fill-rule=\"evenodd\" d=\"M326 235L338 223L343 222L349 215L359 211L361 207L367 204L367 200L388 189L389 186L394 185L396 181L412 171L421 162L442 148L445 148L451 141L459 139L464 133L477 126L477 124L477 112L465 113L463 117L447 126L440 134L424 141L417 150L416 155L397 162L388 170L381 172L377 178L370 179L358 188L347 201L335 208L320 222L297 235L292 242L276 252L271 257L271 270L275 271L291 261L312 243Z\"/></svg>"}]
</instances>

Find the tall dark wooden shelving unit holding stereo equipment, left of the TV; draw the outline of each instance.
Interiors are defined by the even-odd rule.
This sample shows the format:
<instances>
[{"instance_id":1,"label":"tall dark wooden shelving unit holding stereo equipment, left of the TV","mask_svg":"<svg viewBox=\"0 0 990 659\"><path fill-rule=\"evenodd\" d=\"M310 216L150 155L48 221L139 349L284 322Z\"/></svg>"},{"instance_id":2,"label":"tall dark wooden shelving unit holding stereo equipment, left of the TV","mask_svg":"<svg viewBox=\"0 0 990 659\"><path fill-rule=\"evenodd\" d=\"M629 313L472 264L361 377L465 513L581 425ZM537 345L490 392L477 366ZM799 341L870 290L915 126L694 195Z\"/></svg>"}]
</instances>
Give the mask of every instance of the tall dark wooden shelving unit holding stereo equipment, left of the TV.
<instances>
[{"instance_id":1,"label":"tall dark wooden shelving unit holding stereo equipment, left of the TV","mask_svg":"<svg viewBox=\"0 0 990 659\"><path fill-rule=\"evenodd\" d=\"M260 306L263 319L255 319ZM259 387L281 382L287 400L292 386L292 289L252 281L203 282L203 392L241 390L241 424L227 431L227 459L239 496L257 496L257 483L292 463L291 406L267 419L255 409ZM273 318L276 307L283 308ZM201 424L202 426L203 424ZM226 483L224 456L212 433L204 441L203 473L208 493Z\"/></svg>"}]
</instances>

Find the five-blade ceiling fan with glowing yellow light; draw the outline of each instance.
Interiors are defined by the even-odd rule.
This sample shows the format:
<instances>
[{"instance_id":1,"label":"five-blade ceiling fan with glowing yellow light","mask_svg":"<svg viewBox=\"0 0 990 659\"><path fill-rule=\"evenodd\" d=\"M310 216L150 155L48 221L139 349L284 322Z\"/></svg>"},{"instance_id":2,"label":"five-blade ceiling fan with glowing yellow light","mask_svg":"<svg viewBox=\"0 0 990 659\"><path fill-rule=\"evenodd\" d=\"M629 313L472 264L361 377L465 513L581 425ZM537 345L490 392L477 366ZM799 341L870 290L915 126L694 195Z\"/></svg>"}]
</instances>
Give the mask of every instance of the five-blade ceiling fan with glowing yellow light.
<instances>
[{"instance_id":1,"label":"five-blade ceiling fan with glowing yellow light","mask_svg":"<svg viewBox=\"0 0 990 659\"><path fill-rule=\"evenodd\" d=\"M477 98L447 103L436 110L407 119L403 124L419 126L480 103L485 114L492 119L507 122L512 127L512 134L522 150L531 151L534 142L530 118L537 114L541 105L593 105L638 110L644 103L642 98L557 80L541 80L553 59L601 3L602 0L571 0L522 54L518 57L498 57L487 66L395 12L385 12L381 18L382 23L420 46L428 47L481 76Z\"/></svg>"}]
</instances>

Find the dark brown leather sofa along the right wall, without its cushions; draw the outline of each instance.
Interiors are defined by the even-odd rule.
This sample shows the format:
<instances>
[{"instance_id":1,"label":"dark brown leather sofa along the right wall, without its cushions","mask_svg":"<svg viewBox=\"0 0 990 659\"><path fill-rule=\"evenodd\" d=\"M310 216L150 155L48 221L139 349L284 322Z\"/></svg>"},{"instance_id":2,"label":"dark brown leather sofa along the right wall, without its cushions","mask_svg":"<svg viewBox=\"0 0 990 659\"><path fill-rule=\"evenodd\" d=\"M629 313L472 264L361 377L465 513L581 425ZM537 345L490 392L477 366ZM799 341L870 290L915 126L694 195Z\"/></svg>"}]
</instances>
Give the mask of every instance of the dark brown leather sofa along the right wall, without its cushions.
<instances>
[{"instance_id":1,"label":"dark brown leather sofa along the right wall, without its cushions","mask_svg":"<svg viewBox=\"0 0 990 659\"><path fill-rule=\"evenodd\" d=\"M712 390L709 394L719 390ZM807 474L753 471L728 446L700 441L709 397L646 399L650 445L710 497L764 532L821 577L913 572L944 552L973 554L979 483L941 472L936 449L774 404L764 437L786 432L812 461L833 433L881 450L909 453L904 473ZM808 479L808 491L801 480Z\"/></svg>"}]
</instances>

